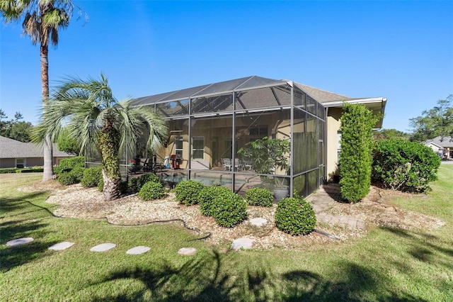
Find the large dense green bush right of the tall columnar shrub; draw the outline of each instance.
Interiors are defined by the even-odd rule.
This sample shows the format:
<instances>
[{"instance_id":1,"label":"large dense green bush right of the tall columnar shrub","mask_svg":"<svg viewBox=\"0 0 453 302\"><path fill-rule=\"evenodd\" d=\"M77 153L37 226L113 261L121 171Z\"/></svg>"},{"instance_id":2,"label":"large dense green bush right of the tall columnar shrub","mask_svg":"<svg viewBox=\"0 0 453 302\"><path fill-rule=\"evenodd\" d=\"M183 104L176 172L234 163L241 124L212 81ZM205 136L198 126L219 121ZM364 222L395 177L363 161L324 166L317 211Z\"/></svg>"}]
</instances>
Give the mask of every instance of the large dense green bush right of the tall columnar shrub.
<instances>
[{"instance_id":1,"label":"large dense green bush right of the tall columnar shrub","mask_svg":"<svg viewBox=\"0 0 453 302\"><path fill-rule=\"evenodd\" d=\"M426 191L437 179L440 157L420 142L381 140L374 145L372 179L401 191Z\"/></svg>"}]
</instances>

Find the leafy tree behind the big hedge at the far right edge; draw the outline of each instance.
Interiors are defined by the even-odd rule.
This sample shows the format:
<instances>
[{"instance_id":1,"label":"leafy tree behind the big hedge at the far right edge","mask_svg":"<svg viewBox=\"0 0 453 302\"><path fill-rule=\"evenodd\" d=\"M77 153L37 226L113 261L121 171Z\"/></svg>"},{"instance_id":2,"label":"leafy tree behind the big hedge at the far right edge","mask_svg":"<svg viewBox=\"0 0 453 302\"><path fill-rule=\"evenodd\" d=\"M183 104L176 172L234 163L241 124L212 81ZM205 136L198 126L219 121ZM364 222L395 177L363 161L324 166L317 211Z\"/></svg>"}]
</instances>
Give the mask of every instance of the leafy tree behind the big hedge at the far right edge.
<instances>
[{"instance_id":1,"label":"leafy tree behind the big hedge at the far right edge","mask_svg":"<svg viewBox=\"0 0 453 302\"><path fill-rule=\"evenodd\" d=\"M453 94L445 100L437 101L437 106L409 121L413 130L411 140L422 142L437 136L453 137Z\"/></svg>"}]
</instances>

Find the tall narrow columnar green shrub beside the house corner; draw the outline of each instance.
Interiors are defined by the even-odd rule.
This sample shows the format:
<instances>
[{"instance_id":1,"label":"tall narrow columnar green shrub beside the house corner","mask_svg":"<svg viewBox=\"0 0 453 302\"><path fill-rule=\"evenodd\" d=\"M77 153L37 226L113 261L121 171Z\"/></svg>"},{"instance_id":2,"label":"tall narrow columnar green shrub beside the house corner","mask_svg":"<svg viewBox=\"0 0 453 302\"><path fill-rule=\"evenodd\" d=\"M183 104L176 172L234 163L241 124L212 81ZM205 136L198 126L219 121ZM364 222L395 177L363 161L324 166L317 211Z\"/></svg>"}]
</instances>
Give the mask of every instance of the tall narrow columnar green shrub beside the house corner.
<instances>
[{"instance_id":1,"label":"tall narrow columnar green shrub beside the house corner","mask_svg":"<svg viewBox=\"0 0 453 302\"><path fill-rule=\"evenodd\" d=\"M372 128L378 120L362 104L343 106L341 117L340 192L350 202L367 196L371 185Z\"/></svg>"}]
</instances>

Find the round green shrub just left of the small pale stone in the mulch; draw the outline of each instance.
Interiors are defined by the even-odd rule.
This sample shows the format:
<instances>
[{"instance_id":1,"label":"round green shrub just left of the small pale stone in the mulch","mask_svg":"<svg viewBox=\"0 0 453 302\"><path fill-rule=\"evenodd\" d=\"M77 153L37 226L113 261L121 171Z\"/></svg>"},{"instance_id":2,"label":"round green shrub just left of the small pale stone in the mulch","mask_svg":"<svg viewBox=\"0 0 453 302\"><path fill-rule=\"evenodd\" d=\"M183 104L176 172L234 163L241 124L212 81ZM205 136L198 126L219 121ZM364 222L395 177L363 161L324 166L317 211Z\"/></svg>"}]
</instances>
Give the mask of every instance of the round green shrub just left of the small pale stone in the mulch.
<instances>
[{"instance_id":1,"label":"round green shrub just left of the small pale stone in the mulch","mask_svg":"<svg viewBox=\"0 0 453 302\"><path fill-rule=\"evenodd\" d=\"M246 220L247 203L242 196L229 189L219 190L216 193L211 211L218 225L232 228Z\"/></svg>"}]
</instances>

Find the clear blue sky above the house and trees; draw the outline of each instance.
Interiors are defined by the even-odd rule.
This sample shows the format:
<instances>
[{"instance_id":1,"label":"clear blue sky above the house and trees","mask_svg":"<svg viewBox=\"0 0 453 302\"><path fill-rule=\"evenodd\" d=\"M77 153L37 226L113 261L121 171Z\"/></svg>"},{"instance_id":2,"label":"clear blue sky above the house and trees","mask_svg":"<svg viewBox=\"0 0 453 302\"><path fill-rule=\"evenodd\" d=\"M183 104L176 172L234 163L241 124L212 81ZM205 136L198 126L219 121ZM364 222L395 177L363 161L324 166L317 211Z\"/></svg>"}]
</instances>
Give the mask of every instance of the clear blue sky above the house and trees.
<instances>
[{"instance_id":1,"label":"clear blue sky above the house and trees","mask_svg":"<svg viewBox=\"0 0 453 302\"><path fill-rule=\"evenodd\" d=\"M75 1L50 84L103 72L117 99L258 75L388 99L384 128L453 94L453 1ZM0 108L38 121L39 47L1 24Z\"/></svg>"}]
</instances>

